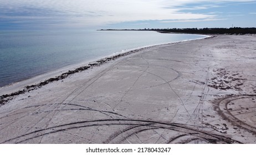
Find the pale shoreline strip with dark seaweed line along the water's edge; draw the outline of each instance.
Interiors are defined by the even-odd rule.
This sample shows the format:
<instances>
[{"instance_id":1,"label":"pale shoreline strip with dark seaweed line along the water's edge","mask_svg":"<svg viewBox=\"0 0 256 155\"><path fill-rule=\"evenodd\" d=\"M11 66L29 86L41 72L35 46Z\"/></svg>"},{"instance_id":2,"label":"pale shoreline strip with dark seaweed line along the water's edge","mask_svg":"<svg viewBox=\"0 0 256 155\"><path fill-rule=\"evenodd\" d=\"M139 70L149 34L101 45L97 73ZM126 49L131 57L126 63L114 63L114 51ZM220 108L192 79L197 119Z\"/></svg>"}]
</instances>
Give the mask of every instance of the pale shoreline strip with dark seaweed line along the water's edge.
<instances>
[{"instance_id":1,"label":"pale shoreline strip with dark seaweed line along the water's edge","mask_svg":"<svg viewBox=\"0 0 256 155\"><path fill-rule=\"evenodd\" d=\"M182 43L182 42L190 42L193 40L200 40L200 39L207 39L207 38L214 37L213 35L204 35L204 34L198 34L198 35L202 35L202 36L204 36L204 38L183 40L183 41L179 41L179 42L171 42L171 43L163 43L163 44L155 44L155 45L147 45L147 46L142 46L142 47L138 47L138 48L134 48L134 49L129 49L124 52L118 52L117 54L111 54L109 56L106 56L106 57L98 59L98 60L86 61L87 63L82 62L79 64L69 65L64 68L60 68L60 69L57 69L54 71L49 71L47 73L43 73L43 74L40 74L40 75L37 75L34 77L30 77L28 79L24 79L22 81L14 82L12 84L0 87L0 90L2 91L0 93L0 107L4 104L7 104L8 101L12 100L13 97L15 97L17 95L21 95L21 94L24 94L25 92L39 89L40 87L47 85L50 82L63 80L70 75L79 73L84 70L92 69L94 66L103 65L103 64L107 63L107 61L112 61L112 60L115 60L122 56L137 53L141 50L144 50L147 48L152 48L154 46L161 46L161 45L175 44L175 43ZM82 64L85 64L85 65L82 65ZM64 71L64 73L62 73L63 71Z\"/></svg>"}]
</instances>

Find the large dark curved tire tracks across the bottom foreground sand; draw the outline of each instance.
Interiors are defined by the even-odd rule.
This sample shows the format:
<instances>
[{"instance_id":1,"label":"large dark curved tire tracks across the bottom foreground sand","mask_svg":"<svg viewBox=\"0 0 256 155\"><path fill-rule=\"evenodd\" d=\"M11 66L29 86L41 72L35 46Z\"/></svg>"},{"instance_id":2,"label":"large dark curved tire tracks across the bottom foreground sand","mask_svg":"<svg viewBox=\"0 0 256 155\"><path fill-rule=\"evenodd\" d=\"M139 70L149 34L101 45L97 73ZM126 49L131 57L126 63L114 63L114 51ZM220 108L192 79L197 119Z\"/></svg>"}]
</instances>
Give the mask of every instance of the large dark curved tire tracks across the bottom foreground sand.
<instances>
[{"instance_id":1,"label":"large dark curved tire tracks across the bottom foreground sand","mask_svg":"<svg viewBox=\"0 0 256 155\"><path fill-rule=\"evenodd\" d=\"M215 135L212 133L197 131L190 126L177 124L177 123L164 123L164 122L156 122L156 121L145 121L145 120L125 120L125 119L116 119L116 120L95 120L95 121L80 121L74 123L67 123L60 126L49 127L42 130L33 131L27 133L25 135L21 135L18 137L14 137L8 139L1 143L24 143L34 138L42 137L45 135L50 135L53 133L68 131L76 128L87 128L87 127L95 127L95 126L129 126L129 129L120 131L115 135L109 137L109 140L106 142L109 143L122 143L126 138L130 136L144 132L147 130L155 130L156 128L165 129L170 131L177 131L181 133L185 133L185 135L190 135L191 138L201 139L202 141L207 141L208 143L240 143L238 141L234 141L231 138L224 137L222 135ZM120 134L126 135L120 138ZM173 139L177 139L173 138ZM171 140L169 141L171 142Z\"/></svg>"}]
</instances>

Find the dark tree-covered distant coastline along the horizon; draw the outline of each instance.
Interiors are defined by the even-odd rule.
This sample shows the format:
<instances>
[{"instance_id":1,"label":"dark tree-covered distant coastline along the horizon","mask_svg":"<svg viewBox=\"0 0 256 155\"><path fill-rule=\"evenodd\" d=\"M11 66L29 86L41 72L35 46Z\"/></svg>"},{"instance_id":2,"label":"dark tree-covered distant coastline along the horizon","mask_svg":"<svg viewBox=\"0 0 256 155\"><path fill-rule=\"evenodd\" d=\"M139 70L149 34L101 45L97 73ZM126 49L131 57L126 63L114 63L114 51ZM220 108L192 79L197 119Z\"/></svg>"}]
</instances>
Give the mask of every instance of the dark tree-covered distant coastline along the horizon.
<instances>
[{"instance_id":1,"label":"dark tree-covered distant coastline along the horizon","mask_svg":"<svg viewBox=\"0 0 256 155\"><path fill-rule=\"evenodd\" d=\"M256 34L256 28L172 28L172 29L100 29L100 30L139 30L156 31L159 33L189 33L189 34Z\"/></svg>"}]
</instances>

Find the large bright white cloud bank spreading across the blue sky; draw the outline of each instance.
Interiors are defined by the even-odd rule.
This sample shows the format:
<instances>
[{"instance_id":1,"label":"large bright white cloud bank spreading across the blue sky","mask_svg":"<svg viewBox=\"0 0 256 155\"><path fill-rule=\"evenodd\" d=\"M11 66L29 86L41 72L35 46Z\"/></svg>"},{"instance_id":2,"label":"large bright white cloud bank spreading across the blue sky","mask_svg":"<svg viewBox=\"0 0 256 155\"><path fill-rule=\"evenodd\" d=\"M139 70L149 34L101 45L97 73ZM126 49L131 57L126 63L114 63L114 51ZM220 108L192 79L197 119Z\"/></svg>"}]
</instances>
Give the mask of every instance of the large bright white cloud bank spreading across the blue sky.
<instances>
[{"instance_id":1,"label":"large bright white cloud bank spreading across the blue sky","mask_svg":"<svg viewBox=\"0 0 256 155\"><path fill-rule=\"evenodd\" d=\"M219 20L217 14L188 13L221 7L226 2L243 0L0 0L0 18L16 22L30 20L40 24L97 26L146 20L203 21ZM0 19L1 20L1 19Z\"/></svg>"}]
</instances>

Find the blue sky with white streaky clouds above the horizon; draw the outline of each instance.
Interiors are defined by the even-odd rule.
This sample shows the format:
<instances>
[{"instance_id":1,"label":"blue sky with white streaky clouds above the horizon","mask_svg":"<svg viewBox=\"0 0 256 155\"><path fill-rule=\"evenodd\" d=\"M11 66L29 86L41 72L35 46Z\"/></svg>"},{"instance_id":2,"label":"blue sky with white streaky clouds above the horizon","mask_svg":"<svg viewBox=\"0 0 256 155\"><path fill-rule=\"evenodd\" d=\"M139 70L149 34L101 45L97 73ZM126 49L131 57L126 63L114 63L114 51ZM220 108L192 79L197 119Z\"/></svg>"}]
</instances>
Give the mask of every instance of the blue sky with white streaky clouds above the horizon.
<instances>
[{"instance_id":1,"label":"blue sky with white streaky clouds above the horizon","mask_svg":"<svg viewBox=\"0 0 256 155\"><path fill-rule=\"evenodd\" d=\"M0 29L256 27L256 1L0 0Z\"/></svg>"}]
</instances>

